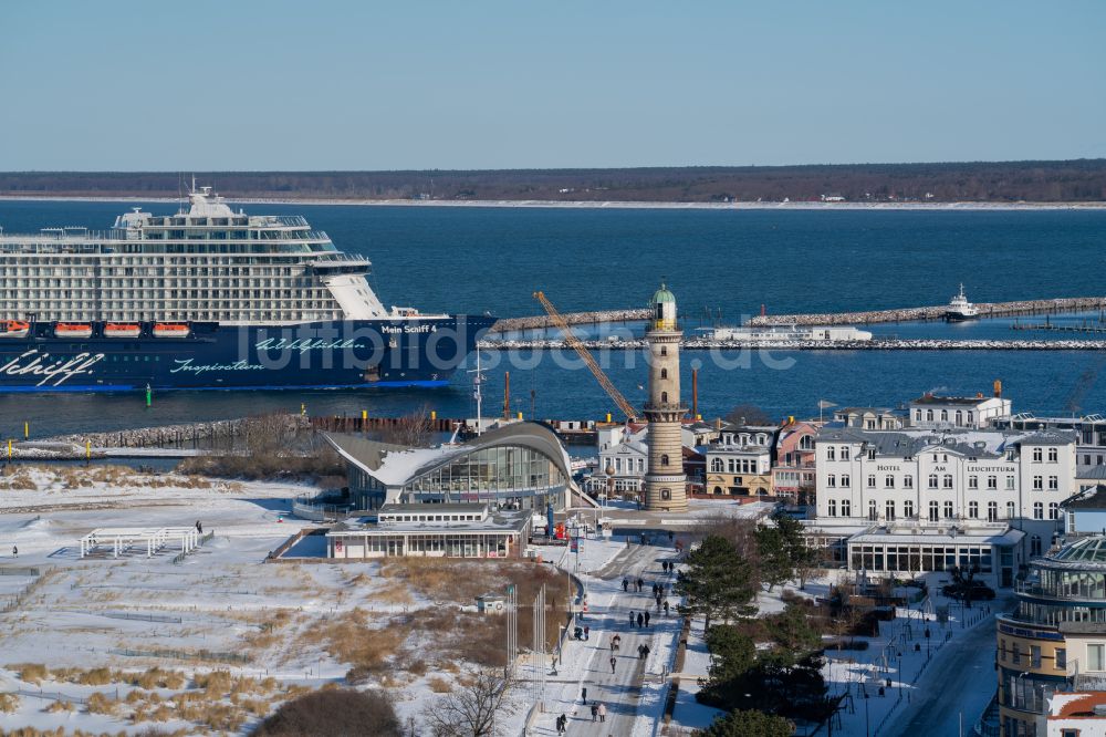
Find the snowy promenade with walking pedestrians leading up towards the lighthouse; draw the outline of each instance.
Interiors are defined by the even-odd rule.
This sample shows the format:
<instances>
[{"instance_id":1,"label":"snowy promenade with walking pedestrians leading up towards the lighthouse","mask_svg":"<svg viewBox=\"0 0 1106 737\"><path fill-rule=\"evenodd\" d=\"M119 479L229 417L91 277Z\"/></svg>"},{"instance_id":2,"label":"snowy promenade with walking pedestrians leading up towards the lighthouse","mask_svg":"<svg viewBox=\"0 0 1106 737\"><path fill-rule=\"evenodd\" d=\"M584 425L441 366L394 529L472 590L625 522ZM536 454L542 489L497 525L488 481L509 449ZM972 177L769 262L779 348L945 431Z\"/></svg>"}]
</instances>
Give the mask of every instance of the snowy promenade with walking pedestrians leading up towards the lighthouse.
<instances>
[{"instance_id":1,"label":"snowy promenade with walking pedestrians leading up towards the lighthouse","mask_svg":"<svg viewBox=\"0 0 1106 737\"><path fill-rule=\"evenodd\" d=\"M670 616L657 614L656 601L650 587L655 582L671 583L672 577L661 571L660 560L672 557L674 551L667 547L633 546L619 553L613 561L597 571L589 582L588 601L603 602L591 604L592 610L585 623L591 627L588 642L573 642L565 651L565 662L562 674L575 673L580 683L587 688L588 706L580 698L577 688L562 688L560 698L552 695L551 713L544 715L535 734L554 735L554 719L560 714L568 716L567 735L587 735L589 737L608 737L630 735L638 712L638 699L641 693L641 678L646 663L638 657L638 645L646 643L654 651L658 648L661 639L675 637L679 633L679 620L675 611ZM641 593L630 587L629 592L623 592L623 577L645 580ZM595 579L602 579L596 581ZM675 604L676 599L668 596ZM629 612L644 611L650 608L651 626L638 629L630 626ZM611 672L611 639L622 636L619 652L615 654L615 669ZM606 720L593 723L589 705L602 702L607 707Z\"/></svg>"}]
</instances>

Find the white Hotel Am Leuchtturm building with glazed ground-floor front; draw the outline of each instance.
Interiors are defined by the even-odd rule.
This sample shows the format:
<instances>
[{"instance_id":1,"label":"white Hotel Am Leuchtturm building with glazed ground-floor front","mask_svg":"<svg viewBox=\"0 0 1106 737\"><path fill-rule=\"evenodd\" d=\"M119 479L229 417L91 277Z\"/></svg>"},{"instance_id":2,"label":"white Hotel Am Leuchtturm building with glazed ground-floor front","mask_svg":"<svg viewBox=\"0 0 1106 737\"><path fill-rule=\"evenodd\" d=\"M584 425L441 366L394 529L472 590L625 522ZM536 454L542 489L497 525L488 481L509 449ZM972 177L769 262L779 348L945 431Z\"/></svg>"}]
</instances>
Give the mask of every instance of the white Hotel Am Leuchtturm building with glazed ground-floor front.
<instances>
[{"instance_id":1,"label":"white Hotel Am Leuchtturm building with glazed ground-floor front","mask_svg":"<svg viewBox=\"0 0 1106 737\"><path fill-rule=\"evenodd\" d=\"M1078 490L1075 448L1060 430L823 428L808 529L851 569L978 564L1009 587L1060 531L1060 504Z\"/></svg>"}]
</instances>

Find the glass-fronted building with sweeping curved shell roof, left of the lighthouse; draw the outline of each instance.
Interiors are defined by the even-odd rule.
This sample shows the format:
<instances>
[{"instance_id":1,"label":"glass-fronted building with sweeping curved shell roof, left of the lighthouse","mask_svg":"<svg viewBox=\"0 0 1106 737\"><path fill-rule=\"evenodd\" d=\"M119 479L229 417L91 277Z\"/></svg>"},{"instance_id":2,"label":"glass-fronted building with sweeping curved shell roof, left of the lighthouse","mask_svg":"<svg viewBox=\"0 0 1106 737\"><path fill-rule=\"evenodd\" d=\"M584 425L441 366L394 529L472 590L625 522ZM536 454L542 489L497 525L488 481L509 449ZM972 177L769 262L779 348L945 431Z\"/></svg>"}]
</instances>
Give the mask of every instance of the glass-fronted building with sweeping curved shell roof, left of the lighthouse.
<instances>
[{"instance_id":1,"label":"glass-fronted building with sweeping curved shell roof, left of the lighthouse","mask_svg":"<svg viewBox=\"0 0 1106 737\"><path fill-rule=\"evenodd\" d=\"M500 509L563 509L572 491L568 454L542 423L512 423L458 445L407 448L328 434L346 460L361 509L385 504L482 502Z\"/></svg>"}]
</instances>

